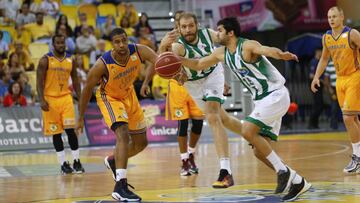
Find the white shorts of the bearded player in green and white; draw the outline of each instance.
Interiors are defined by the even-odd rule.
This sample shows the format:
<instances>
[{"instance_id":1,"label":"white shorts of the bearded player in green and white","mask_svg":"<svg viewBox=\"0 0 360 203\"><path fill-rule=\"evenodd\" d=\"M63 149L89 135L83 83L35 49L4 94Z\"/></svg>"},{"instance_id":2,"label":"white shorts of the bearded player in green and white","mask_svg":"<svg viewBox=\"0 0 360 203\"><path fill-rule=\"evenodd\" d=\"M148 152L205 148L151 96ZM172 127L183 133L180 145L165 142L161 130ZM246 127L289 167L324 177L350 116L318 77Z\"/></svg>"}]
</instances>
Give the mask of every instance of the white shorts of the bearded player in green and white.
<instances>
[{"instance_id":1,"label":"white shorts of the bearded player in green and white","mask_svg":"<svg viewBox=\"0 0 360 203\"><path fill-rule=\"evenodd\" d=\"M184 87L195 100L198 107L205 112L206 101L224 103L224 80L224 68L219 64L207 77L187 81Z\"/></svg>"}]
</instances>

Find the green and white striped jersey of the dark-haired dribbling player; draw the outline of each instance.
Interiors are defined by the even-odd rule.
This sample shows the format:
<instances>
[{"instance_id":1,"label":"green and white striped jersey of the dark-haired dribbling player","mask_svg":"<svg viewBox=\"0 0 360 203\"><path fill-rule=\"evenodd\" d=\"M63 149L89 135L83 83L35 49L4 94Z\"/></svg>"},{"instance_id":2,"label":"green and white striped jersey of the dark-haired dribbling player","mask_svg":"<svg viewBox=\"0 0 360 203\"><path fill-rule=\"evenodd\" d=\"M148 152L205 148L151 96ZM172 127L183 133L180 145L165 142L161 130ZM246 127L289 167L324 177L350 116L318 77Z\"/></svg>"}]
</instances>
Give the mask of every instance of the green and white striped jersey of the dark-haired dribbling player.
<instances>
[{"instance_id":1,"label":"green and white striped jersey of the dark-haired dribbling player","mask_svg":"<svg viewBox=\"0 0 360 203\"><path fill-rule=\"evenodd\" d=\"M225 64L250 91L254 100L260 100L285 84L285 78L265 56L255 63L244 61L241 51L246 39L239 38L235 53L225 48Z\"/></svg>"}]
</instances>

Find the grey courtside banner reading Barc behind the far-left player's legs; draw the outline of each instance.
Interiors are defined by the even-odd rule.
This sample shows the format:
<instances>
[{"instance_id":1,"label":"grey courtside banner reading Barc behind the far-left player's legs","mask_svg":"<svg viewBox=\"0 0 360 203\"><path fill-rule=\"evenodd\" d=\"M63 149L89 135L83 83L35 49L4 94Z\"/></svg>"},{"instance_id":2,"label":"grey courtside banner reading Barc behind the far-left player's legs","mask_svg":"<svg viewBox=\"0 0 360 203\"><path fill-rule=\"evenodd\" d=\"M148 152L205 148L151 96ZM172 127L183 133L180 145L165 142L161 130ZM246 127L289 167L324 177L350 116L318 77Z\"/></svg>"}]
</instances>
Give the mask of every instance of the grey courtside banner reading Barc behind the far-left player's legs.
<instances>
[{"instance_id":1,"label":"grey courtside banner reading Barc behind the far-left player's legs","mask_svg":"<svg viewBox=\"0 0 360 203\"><path fill-rule=\"evenodd\" d=\"M62 138L69 146L65 133ZM86 135L80 136L79 144L89 144ZM0 107L0 151L52 148L52 137L42 133L40 107Z\"/></svg>"}]
</instances>

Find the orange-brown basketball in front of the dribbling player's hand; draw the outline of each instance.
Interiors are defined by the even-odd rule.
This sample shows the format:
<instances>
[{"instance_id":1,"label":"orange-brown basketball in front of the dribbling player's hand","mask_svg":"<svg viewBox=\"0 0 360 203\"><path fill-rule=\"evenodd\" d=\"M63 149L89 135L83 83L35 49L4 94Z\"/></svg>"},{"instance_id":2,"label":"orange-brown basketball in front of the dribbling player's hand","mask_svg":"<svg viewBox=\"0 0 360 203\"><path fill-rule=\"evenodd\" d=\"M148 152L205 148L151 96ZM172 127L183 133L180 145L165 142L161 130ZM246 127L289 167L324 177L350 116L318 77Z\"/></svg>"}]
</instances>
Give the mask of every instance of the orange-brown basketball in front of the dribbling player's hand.
<instances>
[{"instance_id":1,"label":"orange-brown basketball in front of the dribbling player's hand","mask_svg":"<svg viewBox=\"0 0 360 203\"><path fill-rule=\"evenodd\" d=\"M156 73L165 79L171 79L181 70L181 61L172 52L164 52L159 55L155 62Z\"/></svg>"}]
</instances>

